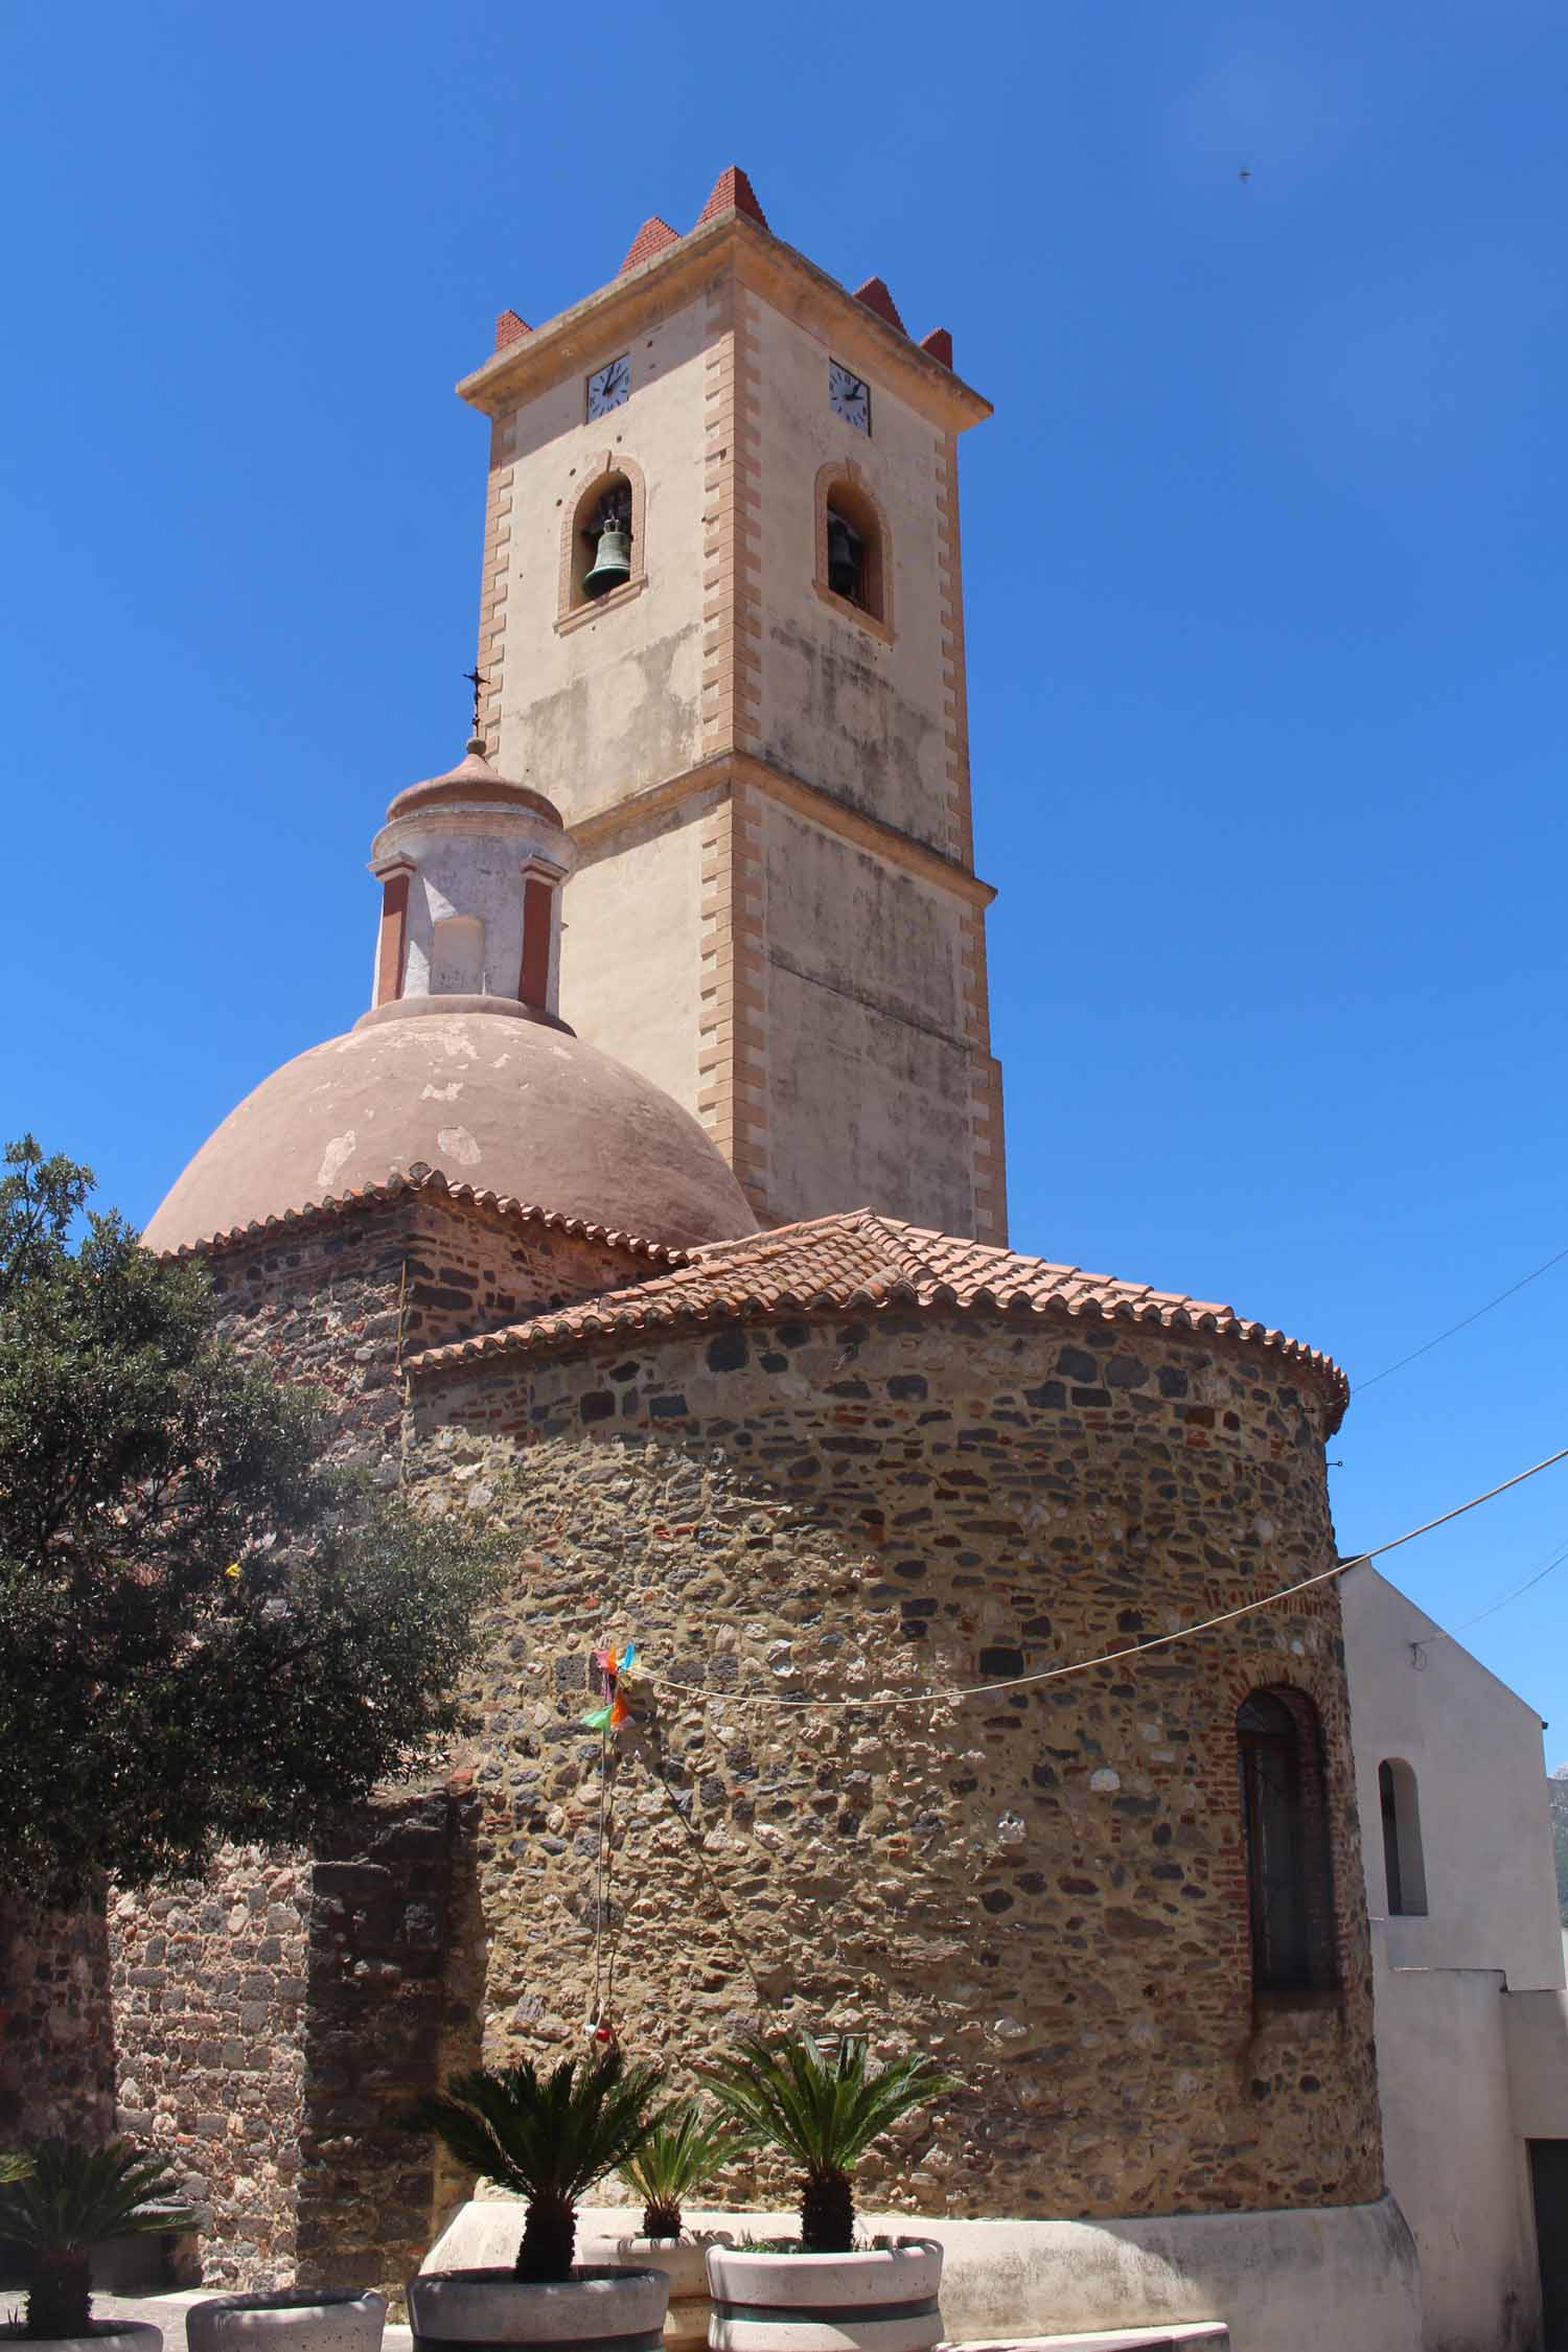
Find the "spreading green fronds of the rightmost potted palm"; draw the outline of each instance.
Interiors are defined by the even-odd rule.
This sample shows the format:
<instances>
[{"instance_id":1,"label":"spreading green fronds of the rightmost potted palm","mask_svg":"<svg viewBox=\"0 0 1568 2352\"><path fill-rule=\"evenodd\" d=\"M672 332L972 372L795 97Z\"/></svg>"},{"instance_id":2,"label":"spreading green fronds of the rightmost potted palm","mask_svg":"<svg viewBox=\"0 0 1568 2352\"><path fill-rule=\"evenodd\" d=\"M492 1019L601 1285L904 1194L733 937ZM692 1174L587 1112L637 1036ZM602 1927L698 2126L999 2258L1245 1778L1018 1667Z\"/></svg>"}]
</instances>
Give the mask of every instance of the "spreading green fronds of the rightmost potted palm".
<instances>
[{"instance_id":1,"label":"spreading green fronds of the rightmost potted palm","mask_svg":"<svg viewBox=\"0 0 1568 2352\"><path fill-rule=\"evenodd\" d=\"M703 2079L736 2124L804 2173L851 2173L903 2114L952 2089L952 2074L919 2056L872 2072L863 2034L844 2034L835 2058L806 2034L783 2046L745 2034Z\"/></svg>"}]
</instances>

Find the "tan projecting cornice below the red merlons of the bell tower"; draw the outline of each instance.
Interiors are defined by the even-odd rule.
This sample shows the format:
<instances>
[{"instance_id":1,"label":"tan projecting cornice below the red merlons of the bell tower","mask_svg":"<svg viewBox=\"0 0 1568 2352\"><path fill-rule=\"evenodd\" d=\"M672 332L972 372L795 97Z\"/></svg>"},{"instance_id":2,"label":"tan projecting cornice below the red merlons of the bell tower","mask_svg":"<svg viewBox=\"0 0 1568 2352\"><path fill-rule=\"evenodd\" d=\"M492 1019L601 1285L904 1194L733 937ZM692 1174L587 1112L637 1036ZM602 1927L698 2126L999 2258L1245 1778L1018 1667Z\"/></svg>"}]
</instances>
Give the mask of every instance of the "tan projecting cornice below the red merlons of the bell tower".
<instances>
[{"instance_id":1,"label":"tan projecting cornice below the red merlons of the bell tower","mask_svg":"<svg viewBox=\"0 0 1568 2352\"><path fill-rule=\"evenodd\" d=\"M743 212L701 223L597 294L534 327L522 341L508 343L458 381L458 395L487 416L503 416L531 393L557 383L564 372L588 369L618 341L656 318L668 318L712 278L715 268L724 266L823 343L832 343L846 365L865 367L940 430L964 433L992 414L983 393Z\"/></svg>"}]
</instances>

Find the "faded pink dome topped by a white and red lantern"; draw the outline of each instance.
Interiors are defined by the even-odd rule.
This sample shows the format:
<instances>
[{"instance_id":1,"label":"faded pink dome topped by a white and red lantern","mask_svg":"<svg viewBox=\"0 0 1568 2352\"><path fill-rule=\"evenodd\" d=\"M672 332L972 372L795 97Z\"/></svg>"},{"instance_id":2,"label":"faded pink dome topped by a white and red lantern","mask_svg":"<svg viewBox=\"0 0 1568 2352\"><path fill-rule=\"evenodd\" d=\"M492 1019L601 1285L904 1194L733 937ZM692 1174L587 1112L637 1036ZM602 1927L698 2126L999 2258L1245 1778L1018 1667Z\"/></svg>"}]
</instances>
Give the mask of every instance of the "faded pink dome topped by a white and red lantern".
<instances>
[{"instance_id":1,"label":"faded pink dome topped by a white and red lantern","mask_svg":"<svg viewBox=\"0 0 1568 2352\"><path fill-rule=\"evenodd\" d=\"M757 1230L691 1112L557 1011L559 811L475 739L371 847L374 1002L230 1110L143 1232L193 1249L423 1162L451 1183L677 1247Z\"/></svg>"}]
</instances>

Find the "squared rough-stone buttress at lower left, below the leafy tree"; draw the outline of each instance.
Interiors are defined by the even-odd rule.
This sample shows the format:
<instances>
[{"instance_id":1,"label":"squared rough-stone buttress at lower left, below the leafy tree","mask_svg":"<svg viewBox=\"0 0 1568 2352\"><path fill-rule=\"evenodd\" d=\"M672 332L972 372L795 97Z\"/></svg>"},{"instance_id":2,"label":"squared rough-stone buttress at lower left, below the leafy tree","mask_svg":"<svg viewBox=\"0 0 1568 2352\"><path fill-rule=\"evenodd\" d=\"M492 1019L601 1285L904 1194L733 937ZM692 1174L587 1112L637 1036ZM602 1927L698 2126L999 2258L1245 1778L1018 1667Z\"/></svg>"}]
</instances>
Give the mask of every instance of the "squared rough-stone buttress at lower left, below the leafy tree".
<instances>
[{"instance_id":1,"label":"squared rough-stone buttress at lower left, below the leafy tree","mask_svg":"<svg viewBox=\"0 0 1568 2352\"><path fill-rule=\"evenodd\" d=\"M226 1849L207 1882L113 1905L120 2129L200 2206L205 2284L418 2267L437 2161L397 2117L475 2053L463 1809L390 1792L315 1863Z\"/></svg>"}]
</instances>

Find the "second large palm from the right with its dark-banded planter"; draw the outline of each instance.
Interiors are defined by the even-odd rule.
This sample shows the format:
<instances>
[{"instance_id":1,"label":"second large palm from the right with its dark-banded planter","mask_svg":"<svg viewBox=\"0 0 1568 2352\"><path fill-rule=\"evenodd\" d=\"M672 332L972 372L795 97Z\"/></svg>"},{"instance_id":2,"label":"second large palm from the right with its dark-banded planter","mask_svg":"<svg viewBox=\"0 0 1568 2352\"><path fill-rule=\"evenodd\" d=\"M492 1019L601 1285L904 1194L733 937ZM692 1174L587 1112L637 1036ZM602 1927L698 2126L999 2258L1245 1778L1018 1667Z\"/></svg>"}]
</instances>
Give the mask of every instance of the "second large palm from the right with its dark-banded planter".
<instances>
[{"instance_id":1,"label":"second large palm from the right with its dark-banded planter","mask_svg":"<svg viewBox=\"0 0 1568 2352\"><path fill-rule=\"evenodd\" d=\"M414 2352L440 2345L611 2345L661 2352L670 2281L661 2270L574 2267L578 2199L637 2154L663 2122L654 2065L614 2046L538 2074L510 2067L454 2074L409 2110L468 2171L524 2199L512 2270L433 2270L409 2279Z\"/></svg>"}]
</instances>

